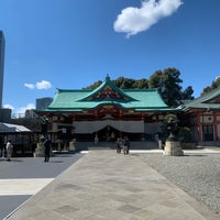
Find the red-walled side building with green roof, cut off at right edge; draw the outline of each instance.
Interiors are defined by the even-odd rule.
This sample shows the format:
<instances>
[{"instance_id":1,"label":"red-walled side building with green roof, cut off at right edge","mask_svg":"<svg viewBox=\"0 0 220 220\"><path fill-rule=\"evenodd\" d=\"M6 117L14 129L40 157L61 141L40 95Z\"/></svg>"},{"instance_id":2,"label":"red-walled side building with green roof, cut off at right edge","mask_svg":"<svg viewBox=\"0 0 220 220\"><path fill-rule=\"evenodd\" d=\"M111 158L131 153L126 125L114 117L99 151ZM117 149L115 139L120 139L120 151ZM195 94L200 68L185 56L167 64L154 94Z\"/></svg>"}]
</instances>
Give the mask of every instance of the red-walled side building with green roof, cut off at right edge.
<instances>
[{"instance_id":1,"label":"red-walled side building with green roof, cut off at right edge","mask_svg":"<svg viewBox=\"0 0 220 220\"><path fill-rule=\"evenodd\" d=\"M179 107L182 124L190 128L195 142L219 145L220 88Z\"/></svg>"}]
</instances>

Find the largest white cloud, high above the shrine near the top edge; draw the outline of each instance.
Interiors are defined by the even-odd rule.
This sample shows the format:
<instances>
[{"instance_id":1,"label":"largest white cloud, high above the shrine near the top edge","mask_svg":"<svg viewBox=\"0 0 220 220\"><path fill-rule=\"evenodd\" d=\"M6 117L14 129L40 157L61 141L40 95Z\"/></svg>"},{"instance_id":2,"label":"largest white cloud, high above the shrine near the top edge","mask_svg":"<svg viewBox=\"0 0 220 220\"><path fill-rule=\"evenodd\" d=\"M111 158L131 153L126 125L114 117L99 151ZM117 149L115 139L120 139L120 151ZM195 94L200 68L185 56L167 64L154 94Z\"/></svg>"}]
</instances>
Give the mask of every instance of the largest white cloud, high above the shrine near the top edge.
<instances>
[{"instance_id":1,"label":"largest white cloud, high above the shrine near the top edge","mask_svg":"<svg viewBox=\"0 0 220 220\"><path fill-rule=\"evenodd\" d=\"M162 18L173 14L183 4L182 0L143 0L141 8L129 7L114 21L116 32L135 35L148 30Z\"/></svg>"}]
</instances>

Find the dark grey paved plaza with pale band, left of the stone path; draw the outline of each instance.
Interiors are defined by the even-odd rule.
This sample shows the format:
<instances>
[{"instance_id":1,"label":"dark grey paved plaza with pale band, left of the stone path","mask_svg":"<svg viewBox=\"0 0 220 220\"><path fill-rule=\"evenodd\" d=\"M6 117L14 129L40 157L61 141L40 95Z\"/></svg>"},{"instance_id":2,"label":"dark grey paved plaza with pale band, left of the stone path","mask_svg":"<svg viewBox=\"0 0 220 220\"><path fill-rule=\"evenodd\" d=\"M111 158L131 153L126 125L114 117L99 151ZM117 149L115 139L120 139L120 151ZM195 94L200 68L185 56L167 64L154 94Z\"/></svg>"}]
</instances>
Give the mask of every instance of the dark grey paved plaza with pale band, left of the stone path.
<instances>
[{"instance_id":1,"label":"dark grey paved plaza with pale band, left of the stone path","mask_svg":"<svg viewBox=\"0 0 220 220\"><path fill-rule=\"evenodd\" d=\"M0 157L0 219L4 219L28 199L81 157L56 154L50 163L42 157Z\"/></svg>"}]
</instances>

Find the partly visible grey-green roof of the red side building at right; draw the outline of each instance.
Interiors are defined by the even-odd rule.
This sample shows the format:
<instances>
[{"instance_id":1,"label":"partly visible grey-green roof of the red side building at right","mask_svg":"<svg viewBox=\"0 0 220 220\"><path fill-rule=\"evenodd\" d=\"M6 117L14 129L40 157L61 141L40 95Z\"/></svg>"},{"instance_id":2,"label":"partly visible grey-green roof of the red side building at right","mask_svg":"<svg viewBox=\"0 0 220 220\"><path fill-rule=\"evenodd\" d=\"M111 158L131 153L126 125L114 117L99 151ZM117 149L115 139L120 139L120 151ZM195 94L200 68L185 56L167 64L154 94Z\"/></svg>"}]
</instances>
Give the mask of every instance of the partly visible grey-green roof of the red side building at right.
<instances>
[{"instance_id":1,"label":"partly visible grey-green roof of the red side building at right","mask_svg":"<svg viewBox=\"0 0 220 220\"><path fill-rule=\"evenodd\" d=\"M184 111L189 109L220 110L220 88L216 88L197 99L188 101L185 105L182 105L179 108Z\"/></svg>"}]
</instances>

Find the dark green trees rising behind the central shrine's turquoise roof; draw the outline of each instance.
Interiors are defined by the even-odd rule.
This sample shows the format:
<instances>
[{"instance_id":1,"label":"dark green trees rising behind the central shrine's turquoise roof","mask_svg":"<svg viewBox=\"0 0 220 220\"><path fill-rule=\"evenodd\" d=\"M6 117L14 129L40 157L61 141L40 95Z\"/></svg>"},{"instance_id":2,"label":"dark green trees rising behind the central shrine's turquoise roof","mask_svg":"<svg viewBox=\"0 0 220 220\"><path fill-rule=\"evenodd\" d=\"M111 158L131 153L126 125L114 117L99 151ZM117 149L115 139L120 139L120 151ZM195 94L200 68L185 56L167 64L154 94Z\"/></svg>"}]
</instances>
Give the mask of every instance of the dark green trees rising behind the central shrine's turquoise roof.
<instances>
[{"instance_id":1,"label":"dark green trees rising behind the central shrine's turquoise roof","mask_svg":"<svg viewBox=\"0 0 220 220\"><path fill-rule=\"evenodd\" d=\"M183 90L180 79L180 73L176 68L166 68L164 70L156 70L150 79L131 79L119 77L112 80L113 84L121 89L147 89L147 88L157 88L162 98L169 107L177 107L185 102L186 100L194 99L193 87L188 86ZM96 81L91 86L88 86L84 89L95 89L102 81Z\"/></svg>"}]
</instances>

